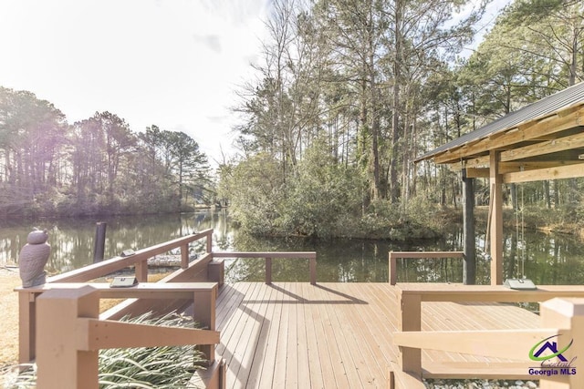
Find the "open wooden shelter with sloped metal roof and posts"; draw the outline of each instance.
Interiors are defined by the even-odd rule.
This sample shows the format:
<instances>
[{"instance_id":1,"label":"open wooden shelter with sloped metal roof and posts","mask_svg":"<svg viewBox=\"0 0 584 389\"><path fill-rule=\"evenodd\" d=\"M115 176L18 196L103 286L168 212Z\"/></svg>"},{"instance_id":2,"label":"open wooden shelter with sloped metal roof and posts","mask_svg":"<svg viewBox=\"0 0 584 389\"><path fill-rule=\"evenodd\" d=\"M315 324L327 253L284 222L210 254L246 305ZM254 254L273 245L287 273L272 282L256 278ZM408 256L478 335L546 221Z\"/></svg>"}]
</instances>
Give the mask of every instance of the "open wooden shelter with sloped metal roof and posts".
<instances>
[{"instance_id":1,"label":"open wooden shelter with sloped metal roof and posts","mask_svg":"<svg viewBox=\"0 0 584 389\"><path fill-rule=\"evenodd\" d=\"M503 184L584 177L584 83L523 107L435 148L433 159L464 183L464 283L474 283L473 181L488 178L491 284L504 282Z\"/></svg>"}]
</instances>

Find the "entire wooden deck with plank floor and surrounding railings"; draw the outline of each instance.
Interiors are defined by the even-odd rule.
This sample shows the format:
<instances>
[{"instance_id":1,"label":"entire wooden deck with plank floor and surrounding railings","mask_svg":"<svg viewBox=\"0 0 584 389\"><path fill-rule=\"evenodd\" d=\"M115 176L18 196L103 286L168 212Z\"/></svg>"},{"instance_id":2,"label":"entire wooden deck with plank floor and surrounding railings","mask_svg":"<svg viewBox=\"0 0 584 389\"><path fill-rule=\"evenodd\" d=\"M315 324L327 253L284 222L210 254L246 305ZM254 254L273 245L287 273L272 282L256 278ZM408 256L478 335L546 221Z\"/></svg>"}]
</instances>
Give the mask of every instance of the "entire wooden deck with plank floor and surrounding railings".
<instances>
[{"instance_id":1,"label":"entire wooden deck with plank floor and surrounding railings","mask_svg":"<svg viewBox=\"0 0 584 389\"><path fill-rule=\"evenodd\" d=\"M397 283L394 276L379 283L317 282L316 252L213 252L212 236L204 230L17 288L19 360L36 360L38 386L97 389L100 349L180 344L198 344L207 357L207 369L192 380L206 388L422 389L422 378L534 379L529 350L555 337L574 372L584 371L577 358L584 343L582 285L510 290ZM206 241L206 252L188 261L189 244L198 240ZM175 248L181 269L147 282L148 259ZM266 281L225 284L227 257L264 258ZM309 283L272 282L273 258L308 259ZM390 270L394 261L390 255ZM129 266L138 285L95 283ZM99 313L99 299L108 298L127 300ZM541 302L541 314L518 302ZM205 330L118 322L174 309L187 310ZM572 343L579 345L568 350ZM537 378L542 389L579 387L579 377L561 371Z\"/></svg>"}]
</instances>

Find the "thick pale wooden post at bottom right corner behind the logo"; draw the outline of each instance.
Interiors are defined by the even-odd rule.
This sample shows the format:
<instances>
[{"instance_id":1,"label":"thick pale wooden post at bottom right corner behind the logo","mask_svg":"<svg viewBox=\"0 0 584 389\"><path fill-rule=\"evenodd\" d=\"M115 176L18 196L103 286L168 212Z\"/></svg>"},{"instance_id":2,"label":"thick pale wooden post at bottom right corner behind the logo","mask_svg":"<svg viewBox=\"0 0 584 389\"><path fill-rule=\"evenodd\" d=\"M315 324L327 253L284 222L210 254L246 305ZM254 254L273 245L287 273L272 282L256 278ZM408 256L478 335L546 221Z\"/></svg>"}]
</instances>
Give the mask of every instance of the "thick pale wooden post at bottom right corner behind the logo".
<instances>
[{"instance_id":1,"label":"thick pale wooden post at bottom right corner behind the logo","mask_svg":"<svg viewBox=\"0 0 584 389\"><path fill-rule=\"evenodd\" d=\"M540 389L575 389L582 385L584 374L584 299L552 299L541 304L541 326L543 328L558 328L565 330L561 335L550 342L558 343L558 350L563 349L573 341L571 347L562 356L568 361L569 367L560 369L558 375L541 375ZM558 362L558 358L549 361ZM573 369L573 370L572 370ZM563 372L562 372L563 370ZM567 374L568 373L568 374Z\"/></svg>"}]
</instances>

